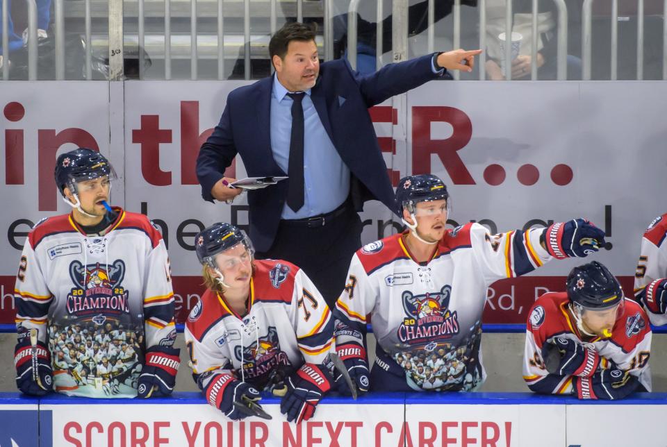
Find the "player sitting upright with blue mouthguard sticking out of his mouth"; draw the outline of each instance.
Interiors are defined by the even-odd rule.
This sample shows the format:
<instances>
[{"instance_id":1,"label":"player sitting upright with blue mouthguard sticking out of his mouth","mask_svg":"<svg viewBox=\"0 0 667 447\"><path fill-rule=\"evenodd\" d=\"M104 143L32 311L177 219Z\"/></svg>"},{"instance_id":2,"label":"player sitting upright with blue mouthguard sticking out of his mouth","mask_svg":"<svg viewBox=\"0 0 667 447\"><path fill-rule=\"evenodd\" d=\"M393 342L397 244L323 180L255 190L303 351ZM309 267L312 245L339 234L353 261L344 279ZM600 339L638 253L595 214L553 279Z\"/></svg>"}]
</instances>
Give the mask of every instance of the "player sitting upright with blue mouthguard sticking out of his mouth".
<instances>
[{"instance_id":1,"label":"player sitting upright with blue mouthguard sticking out of his mouth","mask_svg":"<svg viewBox=\"0 0 667 447\"><path fill-rule=\"evenodd\" d=\"M43 396L167 396L179 366L167 249L142 214L108 205L113 167L91 149L56 160L71 214L33 227L15 287L17 387Z\"/></svg>"}]
</instances>

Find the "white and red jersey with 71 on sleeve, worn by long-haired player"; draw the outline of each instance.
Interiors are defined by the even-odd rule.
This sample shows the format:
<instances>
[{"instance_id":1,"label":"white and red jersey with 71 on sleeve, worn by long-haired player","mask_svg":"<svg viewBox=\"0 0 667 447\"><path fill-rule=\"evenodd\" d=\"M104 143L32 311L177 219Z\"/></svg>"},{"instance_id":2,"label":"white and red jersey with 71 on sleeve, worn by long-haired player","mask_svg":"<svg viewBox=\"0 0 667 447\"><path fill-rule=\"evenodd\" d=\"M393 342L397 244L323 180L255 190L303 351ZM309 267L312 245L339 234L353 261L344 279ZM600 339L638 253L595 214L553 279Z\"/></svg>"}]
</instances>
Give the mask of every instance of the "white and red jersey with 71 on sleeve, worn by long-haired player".
<instances>
[{"instance_id":1,"label":"white and red jersey with 71 on sleeve, worn by long-haired player","mask_svg":"<svg viewBox=\"0 0 667 447\"><path fill-rule=\"evenodd\" d=\"M331 310L294 264L255 260L247 314L206 290L186 321L185 339L197 385L227 373L258 389L304 362L322 364L334 343Z\"/></svg>"}]
</instances>

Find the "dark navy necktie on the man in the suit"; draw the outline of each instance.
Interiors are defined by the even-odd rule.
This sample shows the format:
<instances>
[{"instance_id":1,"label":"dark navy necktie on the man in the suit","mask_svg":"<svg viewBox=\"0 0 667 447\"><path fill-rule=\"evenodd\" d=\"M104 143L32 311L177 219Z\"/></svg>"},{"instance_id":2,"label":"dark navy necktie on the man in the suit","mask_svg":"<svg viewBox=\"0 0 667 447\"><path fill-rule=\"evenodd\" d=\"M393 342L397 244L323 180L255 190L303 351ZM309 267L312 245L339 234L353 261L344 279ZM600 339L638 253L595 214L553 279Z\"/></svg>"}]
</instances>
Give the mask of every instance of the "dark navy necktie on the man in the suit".
<instances>
[{"instance_id":1,"label":"dark navy necktie on the man in the suit","mask_svg":"<svg viewBox=\"0 0 667 447\"><path fill-rule=\"evenodd\" d=\"M304 205L304 93L288 93L292 103L292 137L287 175L287 205L297 212Z\"/></svg>"}]
</instances>

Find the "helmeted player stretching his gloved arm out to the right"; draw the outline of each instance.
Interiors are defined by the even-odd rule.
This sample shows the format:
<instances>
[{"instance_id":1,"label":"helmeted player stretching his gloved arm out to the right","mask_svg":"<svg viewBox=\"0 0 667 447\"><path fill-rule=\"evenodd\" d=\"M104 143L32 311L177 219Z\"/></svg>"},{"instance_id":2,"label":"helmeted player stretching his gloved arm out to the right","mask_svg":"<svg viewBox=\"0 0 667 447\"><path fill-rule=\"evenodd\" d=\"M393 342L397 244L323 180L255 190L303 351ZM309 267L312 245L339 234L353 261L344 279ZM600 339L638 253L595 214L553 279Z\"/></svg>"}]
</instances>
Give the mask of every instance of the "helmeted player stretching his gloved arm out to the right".
<instances>
[{"instance_id":1,"label":"helmeted player stretching his gloved arm out to the right","mask_svg":"<svg viewBox=\"0 0 667 447\"><path fill-rule=\"evenodd\" d=\"M377 339L370 389L475 389L486 378L479 344L488 285L604 244L602 230L582 219L497 235L479 223L447 230L448 201L440 178L402 178L395 204L409 229L352 258L334 333L361 391L369 389L363 349L368 314Z\"/></svg>"}]
</instances>

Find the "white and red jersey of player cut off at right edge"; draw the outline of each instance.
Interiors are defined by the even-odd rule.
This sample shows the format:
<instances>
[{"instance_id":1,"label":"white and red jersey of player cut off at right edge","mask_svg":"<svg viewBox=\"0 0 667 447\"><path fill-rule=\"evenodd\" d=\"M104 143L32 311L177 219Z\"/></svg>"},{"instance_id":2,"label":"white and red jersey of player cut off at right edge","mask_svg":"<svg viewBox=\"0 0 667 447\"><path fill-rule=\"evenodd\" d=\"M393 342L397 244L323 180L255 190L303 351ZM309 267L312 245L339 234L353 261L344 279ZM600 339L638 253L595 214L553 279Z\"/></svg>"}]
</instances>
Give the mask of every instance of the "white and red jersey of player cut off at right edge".
<instances>
[{"instance_id":1,"label":"white and red jersey of player cut off at right edge","mask_svg":"<svg viewBox=\"0 0 667 447\"><path fill-rule=\"evenodd\" d=\"M653 280L667 278L667 214L653 219L641 238L641 251L637 270L634 273L634 295L643 292ZM667 315L651 312L644 307L655 326L667 324Z\"/></svg>"}]
</instances>

